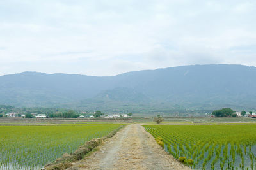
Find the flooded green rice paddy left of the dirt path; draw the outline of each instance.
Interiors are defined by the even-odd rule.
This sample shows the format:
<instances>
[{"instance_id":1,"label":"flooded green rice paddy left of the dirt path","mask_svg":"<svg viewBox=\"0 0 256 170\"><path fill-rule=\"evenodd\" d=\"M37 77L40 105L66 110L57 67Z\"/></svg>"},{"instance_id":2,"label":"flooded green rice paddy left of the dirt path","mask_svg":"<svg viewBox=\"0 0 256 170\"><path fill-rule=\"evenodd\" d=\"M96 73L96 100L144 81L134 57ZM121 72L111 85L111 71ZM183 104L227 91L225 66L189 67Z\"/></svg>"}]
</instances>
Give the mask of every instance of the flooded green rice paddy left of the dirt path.
<instances>
[{"instance_id":1,"label":"flooded green rice paddy left of the dirt path","mask_svg":"<svg viewBox=\"0 0 256 170\"><path fill-rule=\"evenodd\" d=\"M0 126L0 169L39 169L120 125Z\"/></svg>"}]
</instances>

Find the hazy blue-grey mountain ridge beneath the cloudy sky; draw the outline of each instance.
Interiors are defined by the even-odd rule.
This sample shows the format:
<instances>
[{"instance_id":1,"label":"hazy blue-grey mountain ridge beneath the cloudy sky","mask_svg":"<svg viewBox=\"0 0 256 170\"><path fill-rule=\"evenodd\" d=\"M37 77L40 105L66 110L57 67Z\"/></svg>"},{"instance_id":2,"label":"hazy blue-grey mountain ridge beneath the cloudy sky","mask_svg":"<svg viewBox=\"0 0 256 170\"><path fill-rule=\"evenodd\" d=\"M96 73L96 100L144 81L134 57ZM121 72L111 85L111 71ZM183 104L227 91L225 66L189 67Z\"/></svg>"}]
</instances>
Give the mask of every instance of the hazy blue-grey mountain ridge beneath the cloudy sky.
<instances>
[{"instance_id":1,"label":"hazy blue-grey mountain ridge beneath the cloudy sky","mask_svg":"<svg viewBox=\"0 0 256 170\"><path fill-rule=\"evenodd\" d=\"M95 110L254 109L256 67L195 65L117 76L24 72L0 76L0 104Z\"/></svg>"}]
</instances>

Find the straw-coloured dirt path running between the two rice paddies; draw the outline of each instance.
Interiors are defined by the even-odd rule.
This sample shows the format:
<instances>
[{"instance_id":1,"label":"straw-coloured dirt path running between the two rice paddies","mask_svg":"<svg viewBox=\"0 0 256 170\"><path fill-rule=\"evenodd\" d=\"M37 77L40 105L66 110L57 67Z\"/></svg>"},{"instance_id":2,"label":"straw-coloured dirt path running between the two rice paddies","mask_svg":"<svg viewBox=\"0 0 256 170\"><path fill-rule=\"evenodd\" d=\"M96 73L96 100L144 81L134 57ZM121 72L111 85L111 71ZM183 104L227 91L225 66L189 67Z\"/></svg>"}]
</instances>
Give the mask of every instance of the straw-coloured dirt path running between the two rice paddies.
<instances>
[{"instance_id":1,"label":"straw-coloured dirt path running between the two rice paddies","mask_svg":"<svg viewBox=\"0 0 256 170\"><path fill-rule=\"evenodd\" d=\"M76 162L77 169L189 169L167 154L138 124L127 125L97 152Z\"/></svg>"}]
</instances>

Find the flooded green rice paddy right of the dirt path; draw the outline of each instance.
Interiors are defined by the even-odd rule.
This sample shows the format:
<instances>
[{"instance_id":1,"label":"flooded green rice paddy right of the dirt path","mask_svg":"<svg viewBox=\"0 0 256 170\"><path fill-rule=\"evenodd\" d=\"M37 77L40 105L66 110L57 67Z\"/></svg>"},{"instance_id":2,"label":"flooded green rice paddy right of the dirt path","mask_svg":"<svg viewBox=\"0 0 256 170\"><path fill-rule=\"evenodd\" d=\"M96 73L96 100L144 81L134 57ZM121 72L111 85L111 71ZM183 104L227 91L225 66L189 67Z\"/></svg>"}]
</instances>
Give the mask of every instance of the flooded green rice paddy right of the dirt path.
<instances>
[{"instance_id":1,"label":"flooded green rice paddy right of the dirt path","mask_svg":"<svg viewBox=\"0 0 256 170\"><path fill-rule=\"evenodd\" d=\"M193 169L256 169L256 125L143 127L173 157L186 157L184 164ZM189 164L189 159L193 164Z\"/></svg>"}]
</instances>

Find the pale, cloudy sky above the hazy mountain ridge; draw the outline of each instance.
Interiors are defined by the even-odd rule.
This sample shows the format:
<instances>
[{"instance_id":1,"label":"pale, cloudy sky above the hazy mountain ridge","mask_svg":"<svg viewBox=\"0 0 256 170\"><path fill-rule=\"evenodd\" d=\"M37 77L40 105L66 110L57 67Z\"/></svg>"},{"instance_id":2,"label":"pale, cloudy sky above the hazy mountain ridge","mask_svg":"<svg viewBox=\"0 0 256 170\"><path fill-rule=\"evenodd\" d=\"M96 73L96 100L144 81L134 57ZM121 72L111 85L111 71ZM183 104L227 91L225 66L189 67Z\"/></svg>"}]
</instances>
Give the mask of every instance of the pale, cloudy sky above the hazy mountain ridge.
<instances>
[{"instance_id":1,"label":"pale, cloudy sky above the hazy mountain ridge","mask_svg":"<svg viewBox=\"0 0 256 170\"><path fill-rule=\"evenodd\" d=\"M1 0L0 75L256 66L255 21L255 0Z\"/></svg>"}]
</instances>

